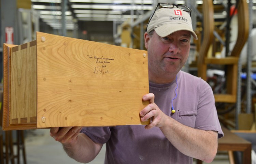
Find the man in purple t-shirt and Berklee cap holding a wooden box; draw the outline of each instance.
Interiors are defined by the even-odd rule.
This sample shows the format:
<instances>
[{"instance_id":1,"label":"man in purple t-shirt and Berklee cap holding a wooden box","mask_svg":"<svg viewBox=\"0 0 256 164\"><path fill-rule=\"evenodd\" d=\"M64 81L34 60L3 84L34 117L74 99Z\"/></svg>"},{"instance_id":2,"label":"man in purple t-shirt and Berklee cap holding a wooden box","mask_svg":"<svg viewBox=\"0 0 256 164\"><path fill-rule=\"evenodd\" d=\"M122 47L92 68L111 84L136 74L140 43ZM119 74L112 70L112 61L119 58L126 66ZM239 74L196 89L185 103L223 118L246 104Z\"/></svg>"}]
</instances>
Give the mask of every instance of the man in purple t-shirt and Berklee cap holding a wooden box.
<instances>
[{"instance_id":1,"label":"man in purple t-shirt and Berklee cap holding a wooden box","mask_svg":"<svg viewBox=\"0 0 256 164\"><path fill-rule=\"evenodd\" d=\"M150 104L141 110L149 125L52 128L71 158L90 162L106 143L106 164L192 164L193 158L211 162L217 138L223 136L211 87L181 71L191 35L191 10L159 3L144 34L148 51Z\"/></svg>"}]
</instances>

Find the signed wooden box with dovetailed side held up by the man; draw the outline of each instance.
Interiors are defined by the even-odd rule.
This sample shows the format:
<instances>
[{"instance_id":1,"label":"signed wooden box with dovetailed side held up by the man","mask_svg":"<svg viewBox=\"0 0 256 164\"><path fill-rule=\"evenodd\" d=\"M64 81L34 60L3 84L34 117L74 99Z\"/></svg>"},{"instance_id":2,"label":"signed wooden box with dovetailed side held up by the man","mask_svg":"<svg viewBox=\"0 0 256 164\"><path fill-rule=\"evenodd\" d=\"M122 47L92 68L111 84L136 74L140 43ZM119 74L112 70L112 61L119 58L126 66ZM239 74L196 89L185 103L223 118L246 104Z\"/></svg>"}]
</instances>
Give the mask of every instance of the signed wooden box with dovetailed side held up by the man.
<instances>
[{"instance_id":1,"label":"signed wooden box with dovetailed side held up by the man","mask_svg":"<svg viewBox=\"0 0 256 164\"><path fill-rule=\"evenodd\" d=\"M37 32L3 53L3 130L149 123L144 50Z\"/></svg>"}]
</instances>

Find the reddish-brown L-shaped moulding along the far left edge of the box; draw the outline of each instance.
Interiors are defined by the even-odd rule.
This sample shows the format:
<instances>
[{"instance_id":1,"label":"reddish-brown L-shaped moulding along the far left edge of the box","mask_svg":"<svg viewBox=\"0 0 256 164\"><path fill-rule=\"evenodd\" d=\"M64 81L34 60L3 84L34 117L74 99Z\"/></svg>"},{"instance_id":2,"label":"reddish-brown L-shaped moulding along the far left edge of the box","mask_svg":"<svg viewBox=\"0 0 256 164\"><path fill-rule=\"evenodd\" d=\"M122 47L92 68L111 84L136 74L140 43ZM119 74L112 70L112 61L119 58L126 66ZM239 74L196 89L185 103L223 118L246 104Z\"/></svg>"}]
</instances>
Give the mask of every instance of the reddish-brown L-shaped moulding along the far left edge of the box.
<instances>
[{"instance_id":1,"label":"reddish-brown L-shaped moulding along the far left edge of the box","mask_svg":"<svg viewBox=\"0 0 256 164\"><path fill-rule=\"evenodd\" d=\"M11 71L11 48L17 47L13 44L3 44L3 130L34 129L36 124L10 124L10 71Z\"/></svg>"}]
</instances>

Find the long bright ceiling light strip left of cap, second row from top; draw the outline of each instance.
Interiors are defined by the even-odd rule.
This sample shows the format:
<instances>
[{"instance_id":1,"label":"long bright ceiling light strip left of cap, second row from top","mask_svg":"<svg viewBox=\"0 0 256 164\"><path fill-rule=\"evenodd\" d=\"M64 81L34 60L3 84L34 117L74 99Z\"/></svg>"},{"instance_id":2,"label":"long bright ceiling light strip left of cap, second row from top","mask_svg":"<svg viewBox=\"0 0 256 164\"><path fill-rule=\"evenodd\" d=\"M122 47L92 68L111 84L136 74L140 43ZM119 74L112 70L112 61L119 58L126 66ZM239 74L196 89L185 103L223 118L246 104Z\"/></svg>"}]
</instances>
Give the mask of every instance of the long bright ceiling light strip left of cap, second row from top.
<instances>
[{"instance_id":1,"label":"long bright ceiling light strip left of cap, second row from top","mask_svg":"<svg viewBox=\"0 0 256 164\"><path fill-rule=\"evenodd\" d=\"M72 4L72 8L108 9L108 10L152 10L153 6L142 5L78 5Z\"/></svg>"}]
</instances>

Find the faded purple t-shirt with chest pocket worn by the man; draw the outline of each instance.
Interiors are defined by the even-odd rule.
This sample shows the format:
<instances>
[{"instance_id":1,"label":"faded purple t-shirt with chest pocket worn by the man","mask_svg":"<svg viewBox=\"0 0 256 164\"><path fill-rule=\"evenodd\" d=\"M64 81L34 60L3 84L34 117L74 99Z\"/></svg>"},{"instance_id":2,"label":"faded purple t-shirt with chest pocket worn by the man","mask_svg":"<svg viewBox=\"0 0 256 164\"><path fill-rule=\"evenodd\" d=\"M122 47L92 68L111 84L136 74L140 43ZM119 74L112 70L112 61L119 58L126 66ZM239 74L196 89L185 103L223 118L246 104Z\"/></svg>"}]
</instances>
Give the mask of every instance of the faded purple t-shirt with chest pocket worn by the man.
<instances>
[{"instance_id":1,"label":"faded purple t-shirt with chest pocket worn by the man","mask_svg":"<svg viewBox=\"0 0 256 164\"><path fill-rule=\"evenodd\" d=\"M173 99L177 84L177 97ZM218 138L222 137L211 87L201 78L183 71L177 74L177 84L176 81L169 84L149 83L157 106L186 126L217 131ZM171 113L172 99L175 113ZM144 126L88 127L82 132L96 143L106 143L105 164L193 163L193 158L177 150L159 128L146 130Z\"/></svg>"}]
</instances>

